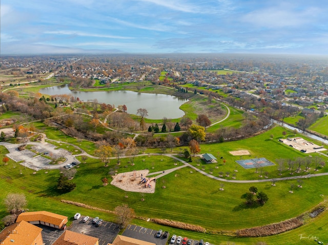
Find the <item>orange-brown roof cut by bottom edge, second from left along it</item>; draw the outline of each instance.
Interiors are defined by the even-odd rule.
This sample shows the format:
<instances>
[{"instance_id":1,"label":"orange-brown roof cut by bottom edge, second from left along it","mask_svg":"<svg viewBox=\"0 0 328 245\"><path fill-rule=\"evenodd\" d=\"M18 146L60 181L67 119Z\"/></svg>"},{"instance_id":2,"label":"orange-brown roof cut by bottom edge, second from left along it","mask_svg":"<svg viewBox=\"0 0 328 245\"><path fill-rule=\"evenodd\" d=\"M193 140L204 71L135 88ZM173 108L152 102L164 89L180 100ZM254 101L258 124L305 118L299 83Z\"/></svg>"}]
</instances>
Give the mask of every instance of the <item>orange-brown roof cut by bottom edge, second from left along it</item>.
<instances>
[{"instance_id":1,"label":"orange-brown roof cut by bottom edge, second from left along it","mask_svg":"<svg viewBox=\"0 0 328 245\"><path fill-rule=\"evenodd\" d=\"M66 230L52 245L98 245L98 238Z\"/></svg>"}]
</instances>

